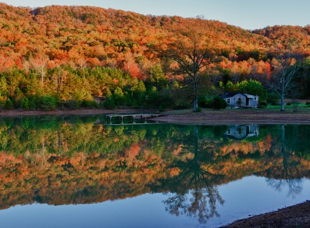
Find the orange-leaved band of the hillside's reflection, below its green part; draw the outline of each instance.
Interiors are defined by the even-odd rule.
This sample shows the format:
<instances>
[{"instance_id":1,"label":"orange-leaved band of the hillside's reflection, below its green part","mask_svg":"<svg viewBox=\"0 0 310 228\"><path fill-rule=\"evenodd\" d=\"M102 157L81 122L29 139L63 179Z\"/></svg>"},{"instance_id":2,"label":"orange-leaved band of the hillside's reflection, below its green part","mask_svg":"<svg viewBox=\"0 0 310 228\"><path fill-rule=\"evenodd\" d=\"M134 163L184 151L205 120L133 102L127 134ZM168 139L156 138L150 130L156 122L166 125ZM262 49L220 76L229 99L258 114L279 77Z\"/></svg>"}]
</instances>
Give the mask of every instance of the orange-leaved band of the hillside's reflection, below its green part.
<instances>
[{"instance_id":1,"label":"orange-leaved band of the hillside's reflection, below its green part","mask_svg":"<svg viewBox=\"0 0 310 228\"><path fill-rule=\"evenodd\" d=\"M181 169L182 166L167 169L168 164L164 160L147 152L141 159L132 159L129 155L116 156L113 160L100 154L87 156L82 153L65 158L52 154L45 158L40 154L14 157L2 153L0 159L1 208L34 201L64 205L138 196L150 192L150 187L156 185L158 180L167 179L169 183L173 183L174 176L184 170ZM127 159L131 159L130 165L126 165ZM297 162L301 165L299 175L309 178L310 162L302 158ZM200 168L212 173L209 185L213 186L253 173L265 176L271 169L277 175L282 172L275 168L279 163L280 159L268 156L259 159L244 158L241 162L235 157L216 164L203 163ZM222 174L223 178L213 178L213 174ZM270 173L268 176L276 177ZM185 180L186 178L183 181ZM163 186L160 191L174 191L171 187Z\"/></svg>"}]
</instances>

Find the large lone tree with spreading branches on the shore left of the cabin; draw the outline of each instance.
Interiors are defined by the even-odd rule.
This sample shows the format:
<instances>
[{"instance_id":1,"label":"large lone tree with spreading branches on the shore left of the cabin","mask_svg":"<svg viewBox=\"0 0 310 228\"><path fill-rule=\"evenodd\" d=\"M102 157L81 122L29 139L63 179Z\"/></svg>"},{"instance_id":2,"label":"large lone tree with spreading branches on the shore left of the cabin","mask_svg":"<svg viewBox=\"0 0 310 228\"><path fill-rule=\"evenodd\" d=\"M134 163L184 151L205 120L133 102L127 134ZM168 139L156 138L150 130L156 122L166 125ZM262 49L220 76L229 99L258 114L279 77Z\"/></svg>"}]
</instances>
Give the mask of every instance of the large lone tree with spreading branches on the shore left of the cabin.
<instances>
[{"instance_id":1,"label":"large lone tree with spreading branches on the shore left of the cabin","mask_svg":"<svg viewBox=\"0 0 310 228\"><path fill-rule=\"evenodd\" d=\"M198 112L198 83L200 71L214 61L215 45L218 35L204 19L189 19L186 23L172 24L171 33L155 50L168 59L178 63L176 74L185 74L192 78L194 84L194 112Z\"/></svg>"}]
</instances>

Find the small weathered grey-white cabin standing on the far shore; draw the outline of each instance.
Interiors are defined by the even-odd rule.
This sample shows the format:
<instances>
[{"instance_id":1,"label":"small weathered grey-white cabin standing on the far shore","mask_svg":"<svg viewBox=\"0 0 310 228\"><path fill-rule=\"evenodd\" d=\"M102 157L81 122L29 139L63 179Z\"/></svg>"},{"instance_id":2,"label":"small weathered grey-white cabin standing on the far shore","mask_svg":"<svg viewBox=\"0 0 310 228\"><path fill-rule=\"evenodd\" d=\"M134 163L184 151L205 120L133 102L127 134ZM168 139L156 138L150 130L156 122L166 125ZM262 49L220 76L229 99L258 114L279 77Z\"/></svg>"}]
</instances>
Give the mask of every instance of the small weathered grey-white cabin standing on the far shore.
<instances>
[{"instance_id":1,"label":"small weathered grey-white cabin standing on the far shore","mask_svg":"<svg viewBox=\"0 0 310 228\"><path fill-rule=\"evenodd\" d=\"M227 105L233 108L258 107L258 96L242 94L240 92L226 92L222 97Z\"/></svg>"}]
</instances>

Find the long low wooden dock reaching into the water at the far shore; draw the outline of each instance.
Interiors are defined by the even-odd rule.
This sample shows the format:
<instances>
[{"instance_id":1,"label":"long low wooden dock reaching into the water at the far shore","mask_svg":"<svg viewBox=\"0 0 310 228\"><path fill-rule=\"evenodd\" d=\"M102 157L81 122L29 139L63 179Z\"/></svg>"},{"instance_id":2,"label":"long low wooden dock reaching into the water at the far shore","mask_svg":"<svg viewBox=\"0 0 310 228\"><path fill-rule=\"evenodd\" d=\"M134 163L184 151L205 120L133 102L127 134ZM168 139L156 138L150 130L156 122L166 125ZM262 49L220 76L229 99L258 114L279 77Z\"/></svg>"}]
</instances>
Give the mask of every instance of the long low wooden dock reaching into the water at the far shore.
<instances>
[{"instance_id":1,"label":"long low wooden dock reaching into the water at the far shore","mask_svg":"<svg viewBox=\"0 0 310 228\"><path fill-rule=\"evenodd\" d=\"M134 125L152 124L157 121L148 121L149 118L163 116L163 114L107 114L107 125Z\"/></svg>"}]
</instances>

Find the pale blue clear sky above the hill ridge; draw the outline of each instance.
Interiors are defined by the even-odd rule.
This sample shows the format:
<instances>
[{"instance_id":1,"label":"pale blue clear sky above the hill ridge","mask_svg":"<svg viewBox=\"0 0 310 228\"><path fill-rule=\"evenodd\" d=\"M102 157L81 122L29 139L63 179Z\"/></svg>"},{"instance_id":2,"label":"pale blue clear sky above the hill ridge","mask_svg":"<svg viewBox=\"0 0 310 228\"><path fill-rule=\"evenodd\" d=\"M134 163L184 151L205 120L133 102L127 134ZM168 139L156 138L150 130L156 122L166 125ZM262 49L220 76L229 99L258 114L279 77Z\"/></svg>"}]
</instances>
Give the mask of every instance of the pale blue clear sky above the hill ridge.
<instances>
[{"instance_id":1,"label":"pale blue clear sky above the hill ridge","mask_svg":"<svg viewBox=\"0 0 310 228\"><path fill-rule=\"evenodd\" d=\"M310 24L309 0L2 0L12 6L98 6L156 16L197 17L223 21L247 30L273 25Z\"/></svg>"}]
</instances>

